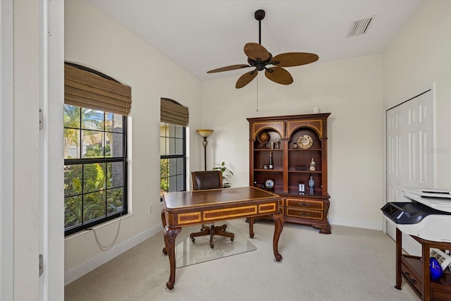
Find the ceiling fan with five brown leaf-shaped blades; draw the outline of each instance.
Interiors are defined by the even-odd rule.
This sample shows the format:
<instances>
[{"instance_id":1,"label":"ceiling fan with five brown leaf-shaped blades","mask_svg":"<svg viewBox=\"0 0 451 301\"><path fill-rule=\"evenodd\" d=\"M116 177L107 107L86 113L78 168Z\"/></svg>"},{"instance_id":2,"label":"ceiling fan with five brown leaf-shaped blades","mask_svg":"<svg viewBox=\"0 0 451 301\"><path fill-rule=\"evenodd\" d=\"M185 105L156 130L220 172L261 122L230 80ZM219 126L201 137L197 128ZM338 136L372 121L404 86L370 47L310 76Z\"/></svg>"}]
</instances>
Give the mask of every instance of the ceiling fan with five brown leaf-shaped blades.
<instances>
[{"instance_id":1,"label":"ceiling fan with five brown leaf-shaped blades","mask_svg":"<svg viewBox=\"0 0 451 301\"><path fill-rule=\"evenodd\" d=\"M319 56L316 54L309 54L307 52L287 52L285 54L278 54L272 56L271 53L261 46L261 20L265 18L265 11L259 9L254 13L254 17L259 21L259 43L247 43L245 44L245 54L247 56L248 65L239 64L231 65L214 70L209 70L206 73L216 73L229 70L236 70L241 68L255 67L254 70L241 75L238 78L235 87L240 89L245 87L256 76L258 71L265 70L265 76L273 82L277 82L281 85L290 85L293 82L291 74L282 67L292 67L306 65L307 63L313 63L318 61ZM272 67L268 65L273 65Z\"/></svg>"}]
</instances>

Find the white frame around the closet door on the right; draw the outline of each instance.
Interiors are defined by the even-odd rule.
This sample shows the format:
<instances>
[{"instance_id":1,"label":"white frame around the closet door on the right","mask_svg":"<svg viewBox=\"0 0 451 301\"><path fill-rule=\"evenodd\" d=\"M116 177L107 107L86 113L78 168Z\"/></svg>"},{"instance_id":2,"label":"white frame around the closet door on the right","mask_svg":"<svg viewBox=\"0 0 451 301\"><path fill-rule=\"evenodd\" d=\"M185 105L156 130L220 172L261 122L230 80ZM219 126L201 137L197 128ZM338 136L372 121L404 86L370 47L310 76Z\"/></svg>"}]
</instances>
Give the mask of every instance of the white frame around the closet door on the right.
<instances>
[{"instance_id":1,"label":"white frame around the closet door on the right","mask_svg":"<svg viewBox=\"0 0 451 301\"><path fill-rule=\"evenodd\" d=\"M383 195L382 195L382 204L381 207L383 207L383 205L385 205L385 198L387 197L387 111L390 109L393 109L393 107L395 106L399 106L400 104L404 103L404 102L408 102L410 99L414 99L415 97L419 96L420 94L423 94L424 92L427 92L428 90L431 90L432 93L432 128L433 128L433 137L432 137L432 145L433 148L435 149L437 147L437 139L436 139L436 126L437 123L435 121L436 119L436 111L435 111L435 101L436 101L436 83L432 82L430 85L427 85L426 87L424 87L423 89L419 89L418 91L416 91L416 93L414 94L414 97L409 97L406 99L402 99L399 100L395 103L392 103L388 106L385 106L383 109ZM432 161L433 161L433 180L432 183L434 185L434 187L437 185L437 156L435 154L435 152L433 152L432 154ZM383 233L387 234L387 226L386 226L386 222L385 222L385 218L383 217L383 214L381 214L381 219L382 219L382 231Z\"/></svg>"}]
</instances>

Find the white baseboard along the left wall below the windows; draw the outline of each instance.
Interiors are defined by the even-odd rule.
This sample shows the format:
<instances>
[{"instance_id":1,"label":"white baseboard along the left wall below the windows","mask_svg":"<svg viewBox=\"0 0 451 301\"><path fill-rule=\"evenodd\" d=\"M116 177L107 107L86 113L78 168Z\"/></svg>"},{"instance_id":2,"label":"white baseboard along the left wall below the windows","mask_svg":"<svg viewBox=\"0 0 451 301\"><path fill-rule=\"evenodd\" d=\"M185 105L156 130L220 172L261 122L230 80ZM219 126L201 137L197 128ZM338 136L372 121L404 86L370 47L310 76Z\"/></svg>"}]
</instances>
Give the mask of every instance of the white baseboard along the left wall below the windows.
<instances>
[{"instance_id":1,"label":"white baseboard along the left wall below the windows","mask_svg":"<svg viewBox=\"0 0 451 301\"><path fill-rule=\"evenodd\" d=\"M78 266L75 269L66 272L64 274L64 285L68 285L69 283L77 280L81 276L88 274L90 271L97 269L102 264L109 262L114 257L117 257L123 252L130 250L132 247L135 247L135 245L140 244L141 242L147 240L148 238L151 238L160 231L161 225L154 226L149 230L144 231L139 235L136 235L134 238L126 240L125 242L121 243L121 245L116 245L115 247L112 247L111 250L99 255L98 257L89 260L89 262L86 262L85 264L82 264L81 266Z\"/></svg>"}]
</instances>

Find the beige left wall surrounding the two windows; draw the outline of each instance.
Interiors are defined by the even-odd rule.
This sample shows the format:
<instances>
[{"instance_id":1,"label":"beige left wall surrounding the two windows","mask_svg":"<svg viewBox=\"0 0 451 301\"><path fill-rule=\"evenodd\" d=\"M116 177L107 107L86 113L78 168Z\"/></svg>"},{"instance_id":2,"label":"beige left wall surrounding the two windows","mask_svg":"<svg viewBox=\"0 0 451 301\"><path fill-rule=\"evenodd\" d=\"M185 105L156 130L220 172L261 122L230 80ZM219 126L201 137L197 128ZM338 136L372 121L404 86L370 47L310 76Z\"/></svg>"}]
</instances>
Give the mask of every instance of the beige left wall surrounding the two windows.
<instances>
[{"instance_id":1,"label":"beige left wall surrounding the two windows","mask_svg":"<svg viewBox=\"0 0 451 301\"><path fill-rule=\"evenodd\" d=\"M161 231L160 98L168 97L188 106L190 126L197 128L199 80L85 1L65 2L65 60L99 70L132 87L129 128L132 214L121 221L115 246L139 235L145 236L143 233L152 235L152 231ZM193 158L191 164L195 166L197 161ZM148 213L149 205L153 206L152 214ZM117 222L98 227L97 235L103 245L113 241L117 228ZM102 254L94 233L71 235L65 242L65 271L76 269Z\"/></svg>"}]
</instances>

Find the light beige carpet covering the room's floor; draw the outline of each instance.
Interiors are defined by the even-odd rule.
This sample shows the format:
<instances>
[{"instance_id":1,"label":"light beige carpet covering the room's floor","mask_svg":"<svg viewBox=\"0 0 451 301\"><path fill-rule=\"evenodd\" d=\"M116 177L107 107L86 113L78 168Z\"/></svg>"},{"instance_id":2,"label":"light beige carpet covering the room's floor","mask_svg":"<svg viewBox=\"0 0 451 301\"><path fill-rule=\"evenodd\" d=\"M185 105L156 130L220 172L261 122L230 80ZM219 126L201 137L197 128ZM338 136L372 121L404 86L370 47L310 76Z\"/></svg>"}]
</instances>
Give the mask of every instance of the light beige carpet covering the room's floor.
<instances>
[{"instance_id":1,"label":"light beige carpet covering the room's floor","mask_svg":"<svg viewBox=\"0 0 451 301\"><path fill-rule=\"evenodd\" d=\"M249 238L243 219L229 223ZM255 223L255 251L177 269L171 293L161 232L66 285L65 300L419 300L404 281L402 290L393 287L395 242L381 231L333 226L323 235L285 223L279 264L273 228L271 221ZM187 235L183 229L176 242Z\"/></svg>"}]
</instances>

